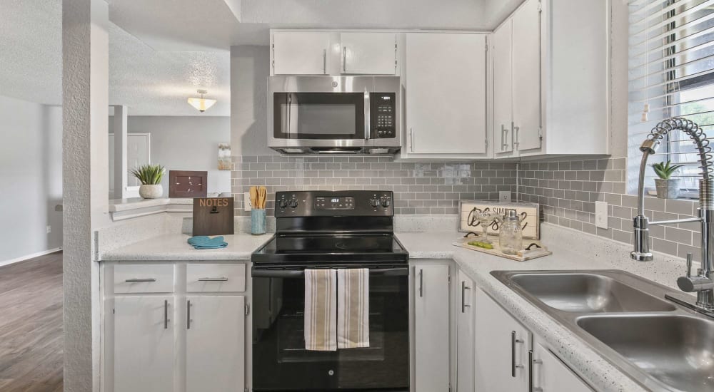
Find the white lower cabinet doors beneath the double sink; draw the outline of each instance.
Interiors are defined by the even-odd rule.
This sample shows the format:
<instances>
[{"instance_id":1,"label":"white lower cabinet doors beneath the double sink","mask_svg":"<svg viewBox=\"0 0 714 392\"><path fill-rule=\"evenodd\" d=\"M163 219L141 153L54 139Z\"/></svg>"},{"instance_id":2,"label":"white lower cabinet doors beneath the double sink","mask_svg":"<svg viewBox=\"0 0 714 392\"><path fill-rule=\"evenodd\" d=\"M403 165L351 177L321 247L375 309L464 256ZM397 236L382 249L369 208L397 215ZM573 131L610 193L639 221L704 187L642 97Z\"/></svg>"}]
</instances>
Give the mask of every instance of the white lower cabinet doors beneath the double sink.
<instances>
[{"instance_id":1,"label":"white lower cabinet doors beneath the double sink","mask_svg":"<svg viewBox=\"0 0 714 392\"><path fill-rule=\"evenodd\" d=\"M475 311L474 391L592 391L587 383L538 341L538 336L533 336L496 301L478 289Z\"/></svg>"}]
</instances>

